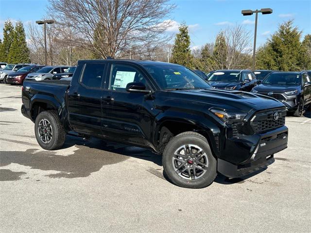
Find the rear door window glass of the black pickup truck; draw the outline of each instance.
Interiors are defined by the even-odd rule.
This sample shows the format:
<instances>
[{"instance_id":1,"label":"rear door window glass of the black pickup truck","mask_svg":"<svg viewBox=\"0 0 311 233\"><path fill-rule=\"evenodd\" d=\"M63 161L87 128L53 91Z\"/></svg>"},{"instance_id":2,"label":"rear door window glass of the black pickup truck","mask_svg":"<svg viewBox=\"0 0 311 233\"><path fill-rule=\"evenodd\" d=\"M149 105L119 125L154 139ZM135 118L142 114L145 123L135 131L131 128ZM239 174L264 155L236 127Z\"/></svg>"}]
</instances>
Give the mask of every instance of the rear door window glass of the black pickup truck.
<instances>
[{"instance_id":1,"label":"rear door window glass of the black pickup truck","mask_svg":"<svg viewBox=\"0 0 311 233\"><path fill-rule=\"evenodd\" d=\"M83 71L82 84L92 88L101 88L104 76L104 64L86 64Z\"/></svg>"}]
</instances>

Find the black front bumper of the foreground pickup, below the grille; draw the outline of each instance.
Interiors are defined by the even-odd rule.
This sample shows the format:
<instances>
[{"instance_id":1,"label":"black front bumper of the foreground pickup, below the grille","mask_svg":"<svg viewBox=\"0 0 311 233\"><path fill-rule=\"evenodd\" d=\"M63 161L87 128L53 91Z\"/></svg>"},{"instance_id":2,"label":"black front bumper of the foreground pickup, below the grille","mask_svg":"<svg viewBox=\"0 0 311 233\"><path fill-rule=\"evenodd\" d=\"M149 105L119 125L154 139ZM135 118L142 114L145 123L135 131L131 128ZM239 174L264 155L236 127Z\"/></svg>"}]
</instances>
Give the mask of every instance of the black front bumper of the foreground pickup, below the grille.
<instances>
[{"instance_id":1,"label":"black front bumper of the foreground pickup, below the grille","mask_svg":"<svg viewBox=\"0 0 311 233\"><path fill-rule=\"evenodd\" d=\"M274 163L274 154L287 148L288 129L286 126L258 136L260 136L259 141L256 145L253 145L255 150L249 159L234 164L218 158L218 172L231 178L250 174Z\"/></svg>"}]
</instances>

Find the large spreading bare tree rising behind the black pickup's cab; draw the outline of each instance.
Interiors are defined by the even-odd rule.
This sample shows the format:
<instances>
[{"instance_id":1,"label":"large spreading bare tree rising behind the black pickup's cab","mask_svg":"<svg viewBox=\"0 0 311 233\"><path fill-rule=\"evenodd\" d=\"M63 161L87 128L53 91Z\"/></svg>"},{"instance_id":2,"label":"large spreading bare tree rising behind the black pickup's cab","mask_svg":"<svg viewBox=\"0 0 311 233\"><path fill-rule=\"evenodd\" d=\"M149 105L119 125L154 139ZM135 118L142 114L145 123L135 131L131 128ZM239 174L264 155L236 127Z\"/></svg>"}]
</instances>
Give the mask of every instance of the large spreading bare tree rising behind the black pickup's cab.
<instances>
[{"instance_id":1,"label":"large spreading bare tree rising behind the black pickup's cab","mask_svg":"<svg viewBox=\"0 0 311 233\"><path fill-rule=\"evenodd\" d=\"M163 18L174 5L169 0L50 0L49 8L58 22L76 31L81 46L105 58L166 40L170 23Z\"/></svg>"}]
</instances>

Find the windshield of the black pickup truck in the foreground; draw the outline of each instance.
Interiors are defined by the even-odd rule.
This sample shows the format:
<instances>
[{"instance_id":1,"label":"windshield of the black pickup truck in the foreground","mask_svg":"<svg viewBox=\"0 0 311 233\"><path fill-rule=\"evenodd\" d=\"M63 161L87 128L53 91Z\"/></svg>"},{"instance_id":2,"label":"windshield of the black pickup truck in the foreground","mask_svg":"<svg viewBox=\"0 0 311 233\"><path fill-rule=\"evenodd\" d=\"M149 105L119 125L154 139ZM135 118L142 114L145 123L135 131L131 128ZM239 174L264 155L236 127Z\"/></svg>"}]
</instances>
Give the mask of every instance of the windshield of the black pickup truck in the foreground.
<instances>
[{"instance_id":1,"label":"windshield of the black pickup truck in the foreground","mask_svg":"<svg viewBox=\"0 0 311 233\"><path fill-rule=\"evenodd\" d=\"M186 67L177 65L146 65L144 67L164 90L211 88L200 76Z\"/></svg>"}]
</instances>

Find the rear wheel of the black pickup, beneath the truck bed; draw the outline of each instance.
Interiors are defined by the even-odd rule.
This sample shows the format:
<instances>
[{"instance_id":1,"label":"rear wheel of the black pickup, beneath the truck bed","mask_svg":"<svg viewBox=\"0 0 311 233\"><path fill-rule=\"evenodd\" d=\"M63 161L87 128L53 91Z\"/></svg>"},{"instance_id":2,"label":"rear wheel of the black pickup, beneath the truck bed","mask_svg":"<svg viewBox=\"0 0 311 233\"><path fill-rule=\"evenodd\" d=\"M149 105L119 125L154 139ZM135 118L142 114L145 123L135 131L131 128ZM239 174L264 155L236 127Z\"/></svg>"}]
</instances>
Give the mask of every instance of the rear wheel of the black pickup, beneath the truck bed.
<instances>
[{"instance_id":1,"label":"rear wheel of the black pickup, beneath the truck bed","mask_svg":"<svg viewBox=\"0 0 311 233\"><path fill-rule=\"evenodd\" d=\"M42 132L42 128L40 127L40 125L42 126L42 121L49 122L51 131L44 131L52 133L52 136L50 136L51 134L48 136L48 139L51 138L50 140L47 140L47 138L43 138L42 140L40 137L39 132ZM55 111L41 112L35 118L35 138L37 139L40 147L44 150L57 150L63 146L66 138L66 132ZM46 142L44 142L44 140L46 140Z\"/></svg>"}]
</instances>

